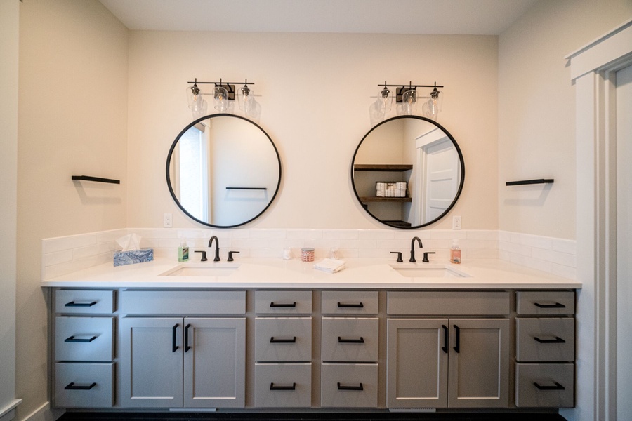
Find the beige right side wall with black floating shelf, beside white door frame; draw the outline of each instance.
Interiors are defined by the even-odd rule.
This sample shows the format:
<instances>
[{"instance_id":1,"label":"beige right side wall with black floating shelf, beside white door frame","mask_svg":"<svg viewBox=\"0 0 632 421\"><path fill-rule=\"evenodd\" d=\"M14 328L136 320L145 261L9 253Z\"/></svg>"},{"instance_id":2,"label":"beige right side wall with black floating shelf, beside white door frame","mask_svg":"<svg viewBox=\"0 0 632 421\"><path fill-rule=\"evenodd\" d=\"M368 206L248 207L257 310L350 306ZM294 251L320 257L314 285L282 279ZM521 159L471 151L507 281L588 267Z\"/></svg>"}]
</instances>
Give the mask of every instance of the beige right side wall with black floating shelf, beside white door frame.
<instances>
[{"instance_id":1,"label":"beige right side wall with black floating shelf, beside white door frame","mask_svg":"<svg viewBox=\"0 0 632 421\"><path fill-rule=\"evenodd\" d=\"M499 37L500 229L575 238L574 87L564 57L631 16L630 0L543 0ZM555 183L505 187L532 178Z\"/></svg>"}]
</instances>

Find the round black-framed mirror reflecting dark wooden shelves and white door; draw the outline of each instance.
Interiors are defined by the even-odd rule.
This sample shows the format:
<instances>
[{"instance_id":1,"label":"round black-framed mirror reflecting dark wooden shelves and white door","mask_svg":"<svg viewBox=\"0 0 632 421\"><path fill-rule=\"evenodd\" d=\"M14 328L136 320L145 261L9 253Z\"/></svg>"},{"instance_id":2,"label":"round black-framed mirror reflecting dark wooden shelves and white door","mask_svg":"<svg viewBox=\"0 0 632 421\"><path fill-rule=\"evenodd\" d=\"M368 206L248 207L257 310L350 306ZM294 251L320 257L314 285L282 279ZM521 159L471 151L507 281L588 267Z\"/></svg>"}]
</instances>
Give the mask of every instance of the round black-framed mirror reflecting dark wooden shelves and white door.
<instances>
[{"instance_id":1,"label":"round black-framed mirror reflecting dark wooden shelves and white door","mask_svg":"<svg viewBox=\"0 0 632 421\"><path fill-rule=\"evenodd\" d=\"M395 116L376 124L353 154L357 200L390 227L414 229L437 222L459 199L464 180L456 140L421 116Z\"/></svg>"}]
</instances>

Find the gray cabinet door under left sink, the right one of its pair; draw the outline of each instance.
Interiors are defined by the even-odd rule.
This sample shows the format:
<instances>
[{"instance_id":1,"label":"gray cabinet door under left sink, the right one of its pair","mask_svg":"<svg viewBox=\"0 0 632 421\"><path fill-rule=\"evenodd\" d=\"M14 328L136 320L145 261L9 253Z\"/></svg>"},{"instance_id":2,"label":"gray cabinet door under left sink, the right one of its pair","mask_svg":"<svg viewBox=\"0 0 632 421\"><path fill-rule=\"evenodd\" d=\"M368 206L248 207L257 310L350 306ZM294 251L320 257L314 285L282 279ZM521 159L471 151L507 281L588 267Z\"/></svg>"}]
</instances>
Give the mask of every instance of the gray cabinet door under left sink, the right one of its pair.
<instances>
[{"instance_id":1,"label":"gray cabinet door under left sink, the right one of its pair","mask_svg":"<svg viewBox=\"0 0 632 421\"><path fill-rule=\"evenodd\" d=\"M243 408L246 319L187 317L184 326L184 406Z\"/></svg>"}]
</instances>

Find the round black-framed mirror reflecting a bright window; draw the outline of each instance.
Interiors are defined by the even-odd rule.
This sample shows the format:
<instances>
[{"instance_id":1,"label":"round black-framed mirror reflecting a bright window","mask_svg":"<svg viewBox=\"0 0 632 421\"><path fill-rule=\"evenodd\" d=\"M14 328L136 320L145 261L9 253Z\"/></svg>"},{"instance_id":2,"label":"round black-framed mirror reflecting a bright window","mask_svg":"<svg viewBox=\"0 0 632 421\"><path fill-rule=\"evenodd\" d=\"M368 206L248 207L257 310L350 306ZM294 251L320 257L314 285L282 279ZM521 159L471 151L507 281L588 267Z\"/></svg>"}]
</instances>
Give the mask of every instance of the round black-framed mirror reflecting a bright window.
<instances>
[{"instance_id":1,"label":"round black-framed mirror reflecting a bright window","mask_svg":"<svg viewBox=\"0 0 632 421\"><path fill-rule=\"evenodd\" d=\"M213 114L190 123L173 141L166 181L173 200L193 220L209 227L239 227L274 201L281 159L258 124Z\"/></svg>"}]
</instances>

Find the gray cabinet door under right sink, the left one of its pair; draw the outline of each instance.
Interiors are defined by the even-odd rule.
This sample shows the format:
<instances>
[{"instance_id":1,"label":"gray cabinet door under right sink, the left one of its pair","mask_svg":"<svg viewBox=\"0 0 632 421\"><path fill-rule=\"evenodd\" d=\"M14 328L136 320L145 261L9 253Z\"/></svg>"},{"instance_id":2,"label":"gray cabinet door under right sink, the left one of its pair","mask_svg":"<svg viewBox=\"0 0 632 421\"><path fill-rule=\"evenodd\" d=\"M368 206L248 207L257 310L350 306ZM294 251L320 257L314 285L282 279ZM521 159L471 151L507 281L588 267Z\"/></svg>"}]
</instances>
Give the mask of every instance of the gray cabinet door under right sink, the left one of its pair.
<instances>
[{"instance_id":1,"label":"gray cabinet door under right sink, the left one of its pair","mask_svg":"<svg viewBox=\"0 0 632 421\"><path fill-rule=\"evenodd\" d=\"M386 406L447 406L448 319L386 321Z\"/></svg>"}]
</instances>

